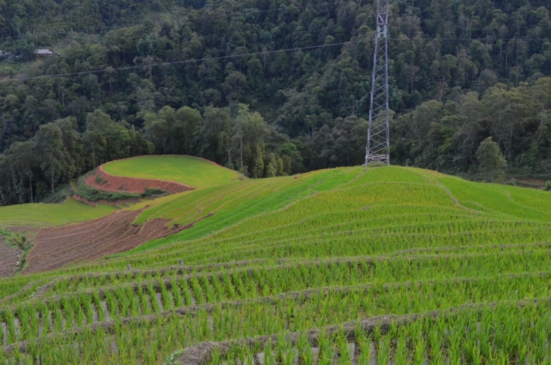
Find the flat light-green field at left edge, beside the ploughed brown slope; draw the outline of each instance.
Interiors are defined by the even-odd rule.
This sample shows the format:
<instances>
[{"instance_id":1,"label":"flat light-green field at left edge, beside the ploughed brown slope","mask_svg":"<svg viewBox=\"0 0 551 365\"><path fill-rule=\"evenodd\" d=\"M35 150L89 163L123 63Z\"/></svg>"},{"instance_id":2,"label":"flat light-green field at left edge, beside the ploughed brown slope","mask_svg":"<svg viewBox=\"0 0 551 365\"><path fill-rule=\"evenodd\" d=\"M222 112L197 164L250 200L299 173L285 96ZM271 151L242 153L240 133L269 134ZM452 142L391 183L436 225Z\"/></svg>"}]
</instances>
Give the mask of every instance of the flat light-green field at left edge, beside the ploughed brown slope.
<instances>
[{"instance_id":1,"label":"flat light-green field at left edge, beside the ploughed brown slope","mask_svg":"<svg viewBox=\"0 0 551 365\"><path fill-rule=\"evenodd\" d=\"M62 204L21 204L0 207L0 227L48 227L83 222L107 216L116 211L111 205L92 207L69 198Z\"/></svg>"}]
</instances>

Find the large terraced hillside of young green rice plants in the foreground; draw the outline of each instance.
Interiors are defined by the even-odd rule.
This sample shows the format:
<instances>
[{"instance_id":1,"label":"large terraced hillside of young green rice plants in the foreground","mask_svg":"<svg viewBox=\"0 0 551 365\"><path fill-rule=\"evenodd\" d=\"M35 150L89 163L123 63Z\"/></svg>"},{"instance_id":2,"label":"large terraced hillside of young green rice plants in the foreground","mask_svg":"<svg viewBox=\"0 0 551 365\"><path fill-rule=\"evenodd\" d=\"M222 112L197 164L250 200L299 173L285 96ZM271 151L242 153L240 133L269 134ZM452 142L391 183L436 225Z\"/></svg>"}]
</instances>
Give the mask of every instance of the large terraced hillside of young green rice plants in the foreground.
<instances>
[{"instance_id":1,"label":"large terraced hillside of young green rice plants in the foreground","mask_svg":"<svg viewBox=\"0 0 551 365\"><path fill-rule=\"evenodd\" d=\"M549 364L550 197L353 167L138 204L189 228L0 280L0 363Z\"/></svg>"}]
</instances>

